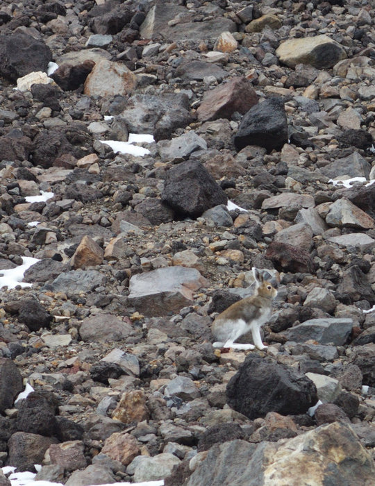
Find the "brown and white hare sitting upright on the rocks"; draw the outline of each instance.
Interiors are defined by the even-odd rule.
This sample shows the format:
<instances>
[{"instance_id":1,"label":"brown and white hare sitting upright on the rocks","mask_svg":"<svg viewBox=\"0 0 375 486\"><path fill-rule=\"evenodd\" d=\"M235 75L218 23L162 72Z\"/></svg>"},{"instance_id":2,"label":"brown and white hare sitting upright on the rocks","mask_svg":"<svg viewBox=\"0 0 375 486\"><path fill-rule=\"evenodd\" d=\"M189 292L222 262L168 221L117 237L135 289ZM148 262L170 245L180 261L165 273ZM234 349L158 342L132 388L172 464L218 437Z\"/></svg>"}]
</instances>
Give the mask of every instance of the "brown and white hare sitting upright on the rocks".
<instances>
[{"instance_id":1,"label":"brown and white hare sitting upright on the rocks","mask_svg":"<svg viewBox=\"0 0 375 486\"><path fill-rule=\"evenodd\" d=\"M255 294L230 305L213 321L213 335L217 342L215 348L265 349L260 337L260 328L272 314L272 300L277 295L276 288L264 280L258 269L253 267L256 281ZM253 344L237 344L235 340L251 330Z\"/></svg>"}]
</instances>

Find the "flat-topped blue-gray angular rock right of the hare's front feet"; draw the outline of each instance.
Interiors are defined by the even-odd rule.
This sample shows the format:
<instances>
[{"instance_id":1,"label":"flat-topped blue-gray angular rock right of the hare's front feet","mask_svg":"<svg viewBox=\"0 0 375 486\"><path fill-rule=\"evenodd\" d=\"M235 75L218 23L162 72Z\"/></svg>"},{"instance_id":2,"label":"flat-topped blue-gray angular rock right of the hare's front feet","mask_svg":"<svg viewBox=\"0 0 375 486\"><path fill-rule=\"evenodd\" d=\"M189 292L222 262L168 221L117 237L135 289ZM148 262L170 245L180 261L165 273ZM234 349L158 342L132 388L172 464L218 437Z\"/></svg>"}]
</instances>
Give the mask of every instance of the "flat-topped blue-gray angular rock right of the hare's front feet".
<instances>
[{"instance_id":1,"label":"flat-topped blue-gray angular rock right of the hare's front feet","mask_svg":"<svg viewBox=\"0 0 375 486\"><path fill-rule=\"evenodd\" d=\"M310 319L302 324L283 331L289 341L317 341L319 344L343 346L347 343L353 320L350 318L332 317L328 319Z\"/></svg>"}]
</instances>

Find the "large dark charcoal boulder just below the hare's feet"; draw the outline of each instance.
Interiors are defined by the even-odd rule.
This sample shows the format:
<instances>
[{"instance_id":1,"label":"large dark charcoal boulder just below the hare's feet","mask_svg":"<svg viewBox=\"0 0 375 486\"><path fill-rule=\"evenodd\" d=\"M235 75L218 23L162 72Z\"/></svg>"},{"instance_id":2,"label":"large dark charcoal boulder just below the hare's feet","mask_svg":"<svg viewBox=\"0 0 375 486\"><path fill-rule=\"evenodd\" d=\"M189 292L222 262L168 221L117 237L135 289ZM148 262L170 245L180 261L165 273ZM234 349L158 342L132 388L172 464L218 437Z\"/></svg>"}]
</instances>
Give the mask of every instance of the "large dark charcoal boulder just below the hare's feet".
<instances>
[{"instance_id":1,"label":"large dark charcoal boulder just below the hare's feet","mask_svg":"<svg viewBox=\"0 0 375 486\"><path fill-rule=\"evenodd\" d=\"M226 387L228 405L249 419L267 412L301 414L317 403L314 383L272 358L249 354Z\"/></svg>"}]
</instances>

